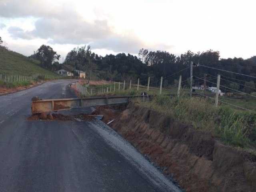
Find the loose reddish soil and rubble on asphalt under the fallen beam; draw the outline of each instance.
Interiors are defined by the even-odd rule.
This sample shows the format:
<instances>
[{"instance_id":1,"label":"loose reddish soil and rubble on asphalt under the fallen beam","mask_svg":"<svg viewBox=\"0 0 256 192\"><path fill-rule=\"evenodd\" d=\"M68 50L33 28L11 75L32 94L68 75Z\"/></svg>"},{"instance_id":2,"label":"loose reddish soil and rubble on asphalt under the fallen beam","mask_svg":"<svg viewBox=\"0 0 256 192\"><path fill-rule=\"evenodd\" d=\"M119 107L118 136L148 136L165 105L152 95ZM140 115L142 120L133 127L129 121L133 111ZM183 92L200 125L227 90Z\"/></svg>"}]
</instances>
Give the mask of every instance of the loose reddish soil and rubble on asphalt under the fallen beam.
<instances>
[{"instance_id":1,"label":"loose reddish soil and rubble on asphalt under the fallen beam","mask_svg":"<svg viewBox=\"0 0 256 192\"><path fill-rule=\"evenodd\" d=\"M94 120L94 117L89 116L88 114L76 114L76 115L62 115L57 113L49 113L48 115L46 113L40 113L40 114L33 114L28 118L30 121L36 121L36 120L52 120L52 121L89 121Z\"/></svg>"}]
</instances>

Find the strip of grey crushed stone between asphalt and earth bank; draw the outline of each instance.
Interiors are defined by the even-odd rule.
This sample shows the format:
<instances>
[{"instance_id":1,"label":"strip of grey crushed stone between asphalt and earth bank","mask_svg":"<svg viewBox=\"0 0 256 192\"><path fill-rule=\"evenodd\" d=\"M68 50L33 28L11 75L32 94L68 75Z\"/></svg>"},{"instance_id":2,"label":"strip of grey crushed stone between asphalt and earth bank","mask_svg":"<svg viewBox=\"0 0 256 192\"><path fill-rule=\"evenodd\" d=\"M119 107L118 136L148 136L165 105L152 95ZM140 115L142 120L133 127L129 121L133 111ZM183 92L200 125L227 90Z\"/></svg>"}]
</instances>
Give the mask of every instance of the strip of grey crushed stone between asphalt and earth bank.
<instances>
[{"instance_id":1,"label":"strip of grey crushed stone between asphalt and earth bank","mask_svg":"<svg viewBox=\"0 0 256 192\"><path fill-rule=\"evenodd\" d=\"M126 159L140 170L152 183L163 191L181 192L178 186L174 185L162 172L154 167L144 158L132 144L122 138L112 128L104 124L101 120L90 122L94 130L104 138L104 140L115 150L120 152ZM163 185L164 184L164 185Z\"/></svg>"}]
</instances>

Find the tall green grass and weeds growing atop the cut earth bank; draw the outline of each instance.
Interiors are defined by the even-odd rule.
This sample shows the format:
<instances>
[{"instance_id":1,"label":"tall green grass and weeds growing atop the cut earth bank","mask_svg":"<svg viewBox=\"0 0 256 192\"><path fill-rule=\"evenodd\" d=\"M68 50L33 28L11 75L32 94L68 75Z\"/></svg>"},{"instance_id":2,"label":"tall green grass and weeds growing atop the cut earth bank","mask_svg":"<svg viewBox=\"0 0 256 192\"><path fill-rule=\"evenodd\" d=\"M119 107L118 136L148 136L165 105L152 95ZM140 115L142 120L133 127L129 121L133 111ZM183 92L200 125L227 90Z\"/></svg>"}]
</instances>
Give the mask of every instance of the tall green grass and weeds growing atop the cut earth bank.
<instances>
[{"instance_id":1,"label":"tall green grass and weeds growing atop the cut earth bank","mask_svg":"<svg viewBox=\"0 0 256 192\"><path fill-rule=\"evenodd\" d=\"M156 96L151 102L139 101L162 114L176 118L196 130L210 132L224 144L248 147L256 145L256 112L214 107L207 98Z\"/></svg>"}]
</instances>

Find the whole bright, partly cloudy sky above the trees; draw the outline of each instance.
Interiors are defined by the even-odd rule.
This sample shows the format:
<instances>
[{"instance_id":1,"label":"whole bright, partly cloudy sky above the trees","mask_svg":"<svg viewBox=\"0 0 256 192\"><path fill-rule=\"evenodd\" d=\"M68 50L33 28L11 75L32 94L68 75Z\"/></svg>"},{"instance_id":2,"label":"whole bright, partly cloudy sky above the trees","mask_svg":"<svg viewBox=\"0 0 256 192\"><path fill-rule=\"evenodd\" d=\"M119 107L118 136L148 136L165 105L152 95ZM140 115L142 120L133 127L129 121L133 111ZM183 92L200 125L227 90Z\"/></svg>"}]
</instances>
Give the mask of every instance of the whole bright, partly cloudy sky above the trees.
<instances>
[{"instance_id":1,"label":"whole bright, partly cloudy sky above the trees","mask_svg":"<svg viewBox=\"0 0 256 192\"><path fill-rule=\"evenodd\" d=\"M141 48L176 56L256 55L255 0L0 0L0 37L30 56L42 44L62 56L90 45L105 56Z\"/></svg>"}]
</instances>

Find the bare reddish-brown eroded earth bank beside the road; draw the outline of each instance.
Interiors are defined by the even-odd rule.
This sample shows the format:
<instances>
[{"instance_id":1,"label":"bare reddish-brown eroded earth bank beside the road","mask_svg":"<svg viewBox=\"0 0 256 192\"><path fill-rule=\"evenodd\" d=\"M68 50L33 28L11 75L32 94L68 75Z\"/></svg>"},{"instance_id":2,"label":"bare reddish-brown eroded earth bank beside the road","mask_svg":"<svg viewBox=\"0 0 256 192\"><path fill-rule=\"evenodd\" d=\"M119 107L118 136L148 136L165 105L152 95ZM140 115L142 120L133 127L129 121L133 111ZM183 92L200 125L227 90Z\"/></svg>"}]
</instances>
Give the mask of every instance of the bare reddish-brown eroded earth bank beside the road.
<instances>
[{"instance_id":1,"label":"bare reddish-brown eroded earth bank beside the road","mask_svg":"<svg viewBox=\"0 0 256 192\"><path fill-rule=\"evenodd\" d=\"M130 103L112 128L190 191L256 191L256 157Z\"/></svg>"}]
</instances>

